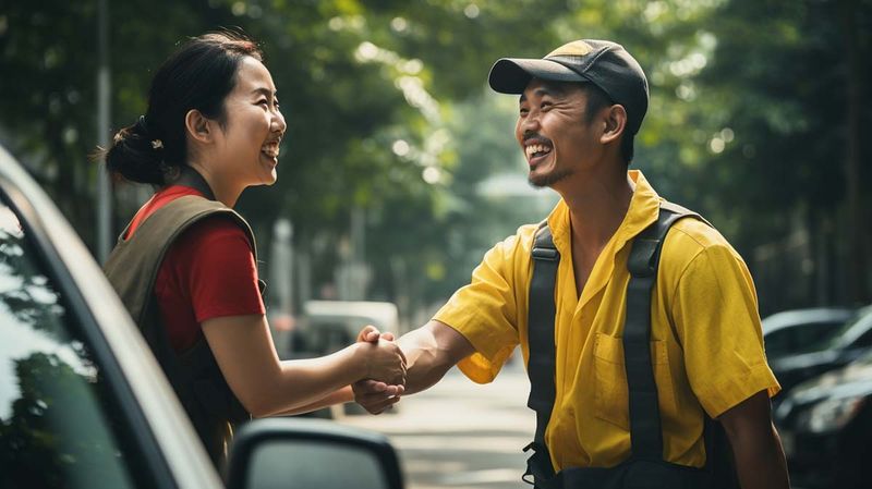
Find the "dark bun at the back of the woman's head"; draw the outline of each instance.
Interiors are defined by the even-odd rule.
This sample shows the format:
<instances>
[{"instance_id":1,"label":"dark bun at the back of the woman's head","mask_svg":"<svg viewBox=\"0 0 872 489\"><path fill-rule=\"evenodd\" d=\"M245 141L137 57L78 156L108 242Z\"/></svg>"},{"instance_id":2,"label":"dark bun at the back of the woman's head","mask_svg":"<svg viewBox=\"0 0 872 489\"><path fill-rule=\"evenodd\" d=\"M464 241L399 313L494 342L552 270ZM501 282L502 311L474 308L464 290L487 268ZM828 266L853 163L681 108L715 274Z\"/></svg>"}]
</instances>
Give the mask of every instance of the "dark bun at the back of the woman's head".
<instances>
[{"instance_id":1,"label":"dark bun at the back of the woman's head","mask_svg":"<svg viewBox=\"0 0 872 489\"><path fill-rule=\"evenodd\" d=\"M106 152L106 169L125 180L164 185L162 143L148 133L145 118L119 131Z\"/></svg>"}]
</instances>

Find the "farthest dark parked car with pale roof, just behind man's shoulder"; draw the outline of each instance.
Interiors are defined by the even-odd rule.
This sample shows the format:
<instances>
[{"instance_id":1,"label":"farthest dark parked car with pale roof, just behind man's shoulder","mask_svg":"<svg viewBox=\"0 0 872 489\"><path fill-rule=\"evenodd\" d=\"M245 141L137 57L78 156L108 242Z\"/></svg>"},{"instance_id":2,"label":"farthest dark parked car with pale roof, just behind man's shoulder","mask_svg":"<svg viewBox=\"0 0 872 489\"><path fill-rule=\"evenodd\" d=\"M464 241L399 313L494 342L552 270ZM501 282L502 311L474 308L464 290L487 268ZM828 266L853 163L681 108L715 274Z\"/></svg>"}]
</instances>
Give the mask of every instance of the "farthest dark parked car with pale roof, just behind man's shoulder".
<instances>
[{"instance_id":1,"label":"farthest dark parked car with pale roof, just behind man's shoulder","mask_svg":"<svg viewBox=\"0 0 872 489\"><path fill-rule=\"evenodd\" d=\"M766 357L774 360L820 344L853 316L847 307L818 307L773 314L763 319Z\"/></svg>"}]
</instances>

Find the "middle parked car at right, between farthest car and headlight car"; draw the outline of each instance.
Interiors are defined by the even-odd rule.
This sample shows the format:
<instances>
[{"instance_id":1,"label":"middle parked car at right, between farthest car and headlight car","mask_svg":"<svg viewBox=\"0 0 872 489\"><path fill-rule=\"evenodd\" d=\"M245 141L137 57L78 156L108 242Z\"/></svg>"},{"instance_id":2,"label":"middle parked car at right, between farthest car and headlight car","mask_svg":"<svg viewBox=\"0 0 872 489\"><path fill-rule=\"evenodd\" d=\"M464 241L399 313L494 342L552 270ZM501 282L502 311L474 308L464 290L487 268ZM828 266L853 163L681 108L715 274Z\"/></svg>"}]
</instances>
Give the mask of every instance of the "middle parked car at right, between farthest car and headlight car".
<instances>
[{"instance_id":1,"label":"middle parked car at right, between farthest car and headlight car","mask_svg":"<svg viewBox=\"0 0 872 489\"><path fill-rule=\"evenodd\" d=\"M826 371L843 367L872 347L872 306L861 308L855 317L836 329L832 335L809 347L806 353L788 355L770 362L782 384L779 403L797 384Z\"/></svg>"}]
</instances>

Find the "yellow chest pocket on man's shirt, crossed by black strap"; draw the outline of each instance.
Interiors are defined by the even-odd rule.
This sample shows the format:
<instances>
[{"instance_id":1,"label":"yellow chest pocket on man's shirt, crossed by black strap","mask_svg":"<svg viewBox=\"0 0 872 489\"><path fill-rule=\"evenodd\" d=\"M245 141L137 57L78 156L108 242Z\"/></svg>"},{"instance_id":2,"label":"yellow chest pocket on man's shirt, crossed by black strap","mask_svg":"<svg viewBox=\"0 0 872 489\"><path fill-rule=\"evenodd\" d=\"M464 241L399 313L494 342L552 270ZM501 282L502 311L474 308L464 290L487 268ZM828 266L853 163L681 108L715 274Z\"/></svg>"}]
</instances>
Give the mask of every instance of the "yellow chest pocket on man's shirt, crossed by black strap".
<instances>
[{"instance_id":1,"label":"yellow chest pocket on man's shirt, crossed by black strap","mask_svg":"<svg viewBox=\"0 0 872 489\"><path fill-rule=\"evenodd\" d=\"M657 403L661 419L675 416L676 404L673 376L666 343L651 342L654 359L654 381L657 384ZM594 344L594 416L626 430L630 429L629 388L623 366L623 339L596 333Z\"/></svg>"}]
</instances>

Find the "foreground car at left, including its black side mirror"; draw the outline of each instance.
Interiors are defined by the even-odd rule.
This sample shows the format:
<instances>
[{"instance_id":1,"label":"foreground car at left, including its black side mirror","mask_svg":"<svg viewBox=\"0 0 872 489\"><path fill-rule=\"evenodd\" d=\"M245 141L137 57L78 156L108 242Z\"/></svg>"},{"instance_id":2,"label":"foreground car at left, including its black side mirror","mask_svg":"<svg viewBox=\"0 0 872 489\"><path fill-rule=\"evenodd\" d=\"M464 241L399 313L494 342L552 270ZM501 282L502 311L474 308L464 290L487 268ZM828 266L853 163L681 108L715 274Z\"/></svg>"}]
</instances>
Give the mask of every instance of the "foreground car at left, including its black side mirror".
<instances>
[{"instance_id":1,"label":"foreground car at left, including its black side mirror","mask_svg":"<svg viewBox=\"0 0 872 489\"><path fill-rule=\"evenodd\" d=\"M400 489L374 433L255 420L227 486L102 271L0 147L0 487Z\"/></svg>"}]
</instances>

